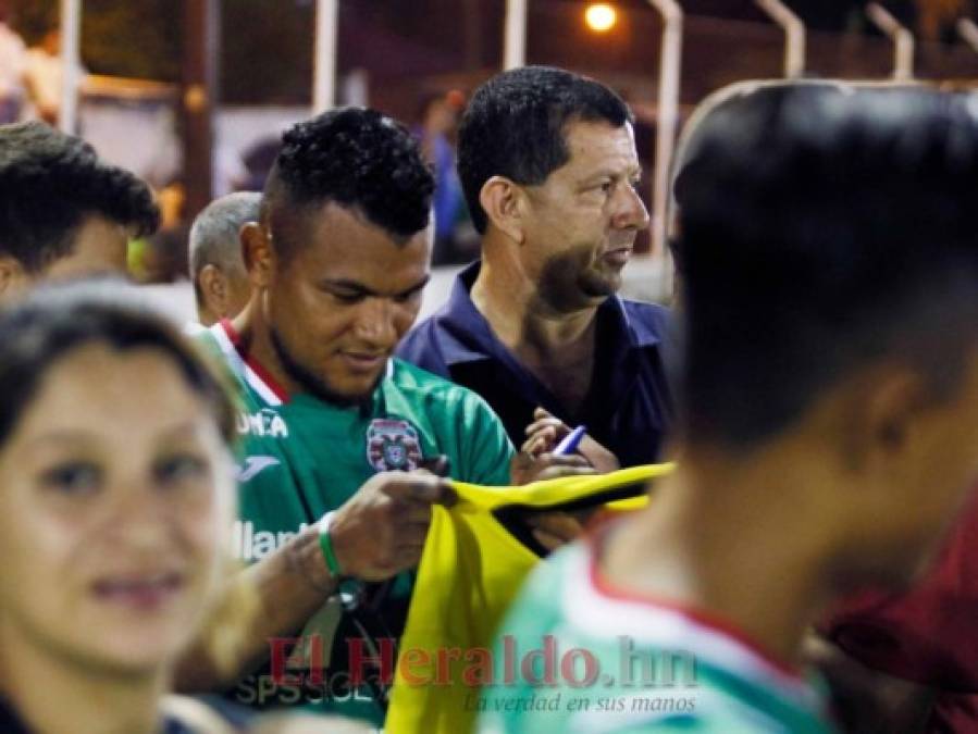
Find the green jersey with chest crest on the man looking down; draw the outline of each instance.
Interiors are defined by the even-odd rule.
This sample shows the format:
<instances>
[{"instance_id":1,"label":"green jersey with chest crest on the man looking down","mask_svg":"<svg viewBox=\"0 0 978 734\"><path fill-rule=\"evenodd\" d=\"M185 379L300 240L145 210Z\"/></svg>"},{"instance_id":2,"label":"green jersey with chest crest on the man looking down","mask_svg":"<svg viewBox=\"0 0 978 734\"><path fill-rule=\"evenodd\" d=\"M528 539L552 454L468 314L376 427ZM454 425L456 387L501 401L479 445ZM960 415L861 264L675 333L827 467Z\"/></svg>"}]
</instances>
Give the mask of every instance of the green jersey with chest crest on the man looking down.
<instances>
[{"instance_id":1,"label":"green jersey with chest crest on the man looking down","mask_svg":"<svg viewBox=\"0 0 978 734\"><path fill-rule=\"evenodd\" d=\"M285 395L261 365L238 352L228 322L198 338L239 387L233 547L246 562L339 508L379 471L407 471L444 455L453 478L509 484L512 445L471 390L392 359L366 405L341 408ZM258 708L311 706L381 723L412 582L412 574L401 573L383 584L345 584L298 637L271 642L270 668L243 679L231 697ZM351 684L354 669L362 684Z\"/></svg>"}]
</instances>

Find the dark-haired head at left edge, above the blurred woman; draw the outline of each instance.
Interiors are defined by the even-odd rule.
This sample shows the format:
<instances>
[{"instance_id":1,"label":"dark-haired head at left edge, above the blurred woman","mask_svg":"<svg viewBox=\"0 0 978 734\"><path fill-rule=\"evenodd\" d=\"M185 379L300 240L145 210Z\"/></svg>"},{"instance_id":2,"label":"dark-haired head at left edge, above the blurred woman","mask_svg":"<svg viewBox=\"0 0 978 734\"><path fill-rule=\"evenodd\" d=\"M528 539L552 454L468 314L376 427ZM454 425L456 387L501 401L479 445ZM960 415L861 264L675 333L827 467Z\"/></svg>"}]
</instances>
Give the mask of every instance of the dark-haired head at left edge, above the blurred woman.
<instances>
[{"instance_id":1,"label":"dark-haired head at left edge, above the blurred woman","mask_svg":"<svg viewBox=\"0 0 978 734\"><path fill-rule=\"evenodd\" d=\"M0 300L48 277L126 270L159 210L136 175L44 123L0 127Z\"/></svg>"}]
</instances>

